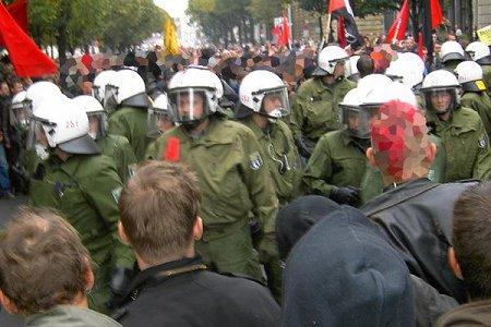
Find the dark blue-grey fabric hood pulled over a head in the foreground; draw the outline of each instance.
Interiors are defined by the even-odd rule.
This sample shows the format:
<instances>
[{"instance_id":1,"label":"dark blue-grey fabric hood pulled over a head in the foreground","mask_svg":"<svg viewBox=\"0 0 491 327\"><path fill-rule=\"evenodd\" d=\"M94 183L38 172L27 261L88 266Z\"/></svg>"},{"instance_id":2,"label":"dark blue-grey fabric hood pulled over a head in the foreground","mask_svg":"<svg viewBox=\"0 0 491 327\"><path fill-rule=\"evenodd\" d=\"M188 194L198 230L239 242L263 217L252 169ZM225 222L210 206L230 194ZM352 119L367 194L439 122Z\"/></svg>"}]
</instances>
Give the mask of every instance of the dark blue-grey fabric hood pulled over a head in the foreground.
<instances>
[{"instance_id":1,"label":"dark blue-grey fabric hood pulled over a head in the foreground","mask_svg":"<svg viewBox=\"0 0 491 327\"><path fill-rule=\"evenodd\" d=\"M409 271L375 226L343 206L297 243L284 274L287 326L412 326Z\"/></svg>"}]
</instances>

